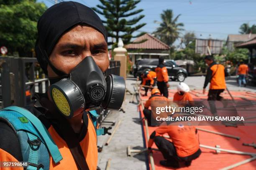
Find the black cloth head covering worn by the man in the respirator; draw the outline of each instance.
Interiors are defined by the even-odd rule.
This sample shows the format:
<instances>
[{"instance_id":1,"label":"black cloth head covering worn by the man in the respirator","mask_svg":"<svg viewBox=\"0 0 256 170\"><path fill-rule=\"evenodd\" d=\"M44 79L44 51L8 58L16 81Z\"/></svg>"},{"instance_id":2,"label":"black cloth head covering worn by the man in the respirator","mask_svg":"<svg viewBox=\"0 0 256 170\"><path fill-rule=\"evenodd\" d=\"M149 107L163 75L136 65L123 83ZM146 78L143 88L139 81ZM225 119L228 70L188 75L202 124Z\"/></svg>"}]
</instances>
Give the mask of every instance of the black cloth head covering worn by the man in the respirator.
<instances>
[{"instance_id":1,"label":"black cloth head covering worn by the man in the respirator","mask_svg":"<svg viewBox=\"0 0 256 170\"><path fill-rule=\"evenodd\" d=\"M64 73L56 69L49 61L49 56L59 38L78 24L88 24L102 33L106 42L107 32L99 16L89 7L77 2L62 2L47 9L38 20L38 38L36 40L36 58L44 73L47 73L47 65L59 76Z\"/></svg>"}]
</instances>

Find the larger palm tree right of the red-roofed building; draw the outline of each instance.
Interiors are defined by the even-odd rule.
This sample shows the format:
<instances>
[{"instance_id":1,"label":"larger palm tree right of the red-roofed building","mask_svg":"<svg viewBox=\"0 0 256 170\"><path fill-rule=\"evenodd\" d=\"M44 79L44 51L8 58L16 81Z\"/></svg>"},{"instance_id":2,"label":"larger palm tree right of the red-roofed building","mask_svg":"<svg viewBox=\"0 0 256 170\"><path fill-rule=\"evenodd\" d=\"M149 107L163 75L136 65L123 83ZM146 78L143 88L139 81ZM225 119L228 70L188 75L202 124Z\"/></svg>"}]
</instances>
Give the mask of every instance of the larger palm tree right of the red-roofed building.
<instances>
[{"instance_id":1,"label":"larger palm tree right of the red-roofed building","mask_svg":"<svg viewBox=\"0 0 256 170\"><path fill-rule=\"evenodd\" d=\"M179 37L179 33L181 30L184 30L183 23L177 23L177 20L181 14L177 15L173 19L173 12L170 9L164 10L161 13L161 22L154 21L155 23L159 23L160 26L156 28L154 34L164 43L169 46L172 46L174 41Z\"/></svg>"}]
</instances>

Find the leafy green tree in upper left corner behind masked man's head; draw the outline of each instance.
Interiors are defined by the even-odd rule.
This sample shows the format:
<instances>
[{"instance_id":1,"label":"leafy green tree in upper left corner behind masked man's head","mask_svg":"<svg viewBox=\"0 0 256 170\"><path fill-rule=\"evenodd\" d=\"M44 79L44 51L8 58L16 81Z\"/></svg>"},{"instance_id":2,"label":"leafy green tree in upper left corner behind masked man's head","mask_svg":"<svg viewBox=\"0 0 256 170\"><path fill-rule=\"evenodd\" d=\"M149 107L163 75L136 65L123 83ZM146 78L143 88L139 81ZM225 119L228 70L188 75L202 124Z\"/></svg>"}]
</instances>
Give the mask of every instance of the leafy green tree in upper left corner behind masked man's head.
<instances>
[{"instance_id":1,"label":"leafy green tree in upper left corner behind masked man's head","mask_svg":"<svg viewBox=\"0 0 256 170\"><path fill-rule=\"evenodd\" d=\"M0 46L10 54L31 56L35 46L37 21L46 10L36 0L0 0Z\"/></svg>"}]
</instances>

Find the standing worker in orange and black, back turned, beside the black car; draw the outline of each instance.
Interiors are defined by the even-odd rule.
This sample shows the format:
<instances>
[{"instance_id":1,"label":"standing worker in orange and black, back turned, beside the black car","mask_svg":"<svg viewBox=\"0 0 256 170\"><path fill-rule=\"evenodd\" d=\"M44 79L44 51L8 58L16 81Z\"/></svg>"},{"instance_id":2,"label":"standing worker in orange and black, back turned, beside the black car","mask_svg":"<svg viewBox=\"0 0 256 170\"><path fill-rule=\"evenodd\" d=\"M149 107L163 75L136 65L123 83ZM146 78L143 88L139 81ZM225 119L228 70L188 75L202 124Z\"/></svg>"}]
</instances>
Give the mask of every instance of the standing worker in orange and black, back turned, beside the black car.
<instances>
[{"instance_id":1,"label":"standing worker in orange and black, back turned, beside the black car","mask_svg":"<svg viewBox=\"0 0 256 170\"><path fill-rule=\"evenodd\" d=\"M155 69L157 77L157 87L163 96L168 98L168 72L166 66L164 66L164 58L159 57L159 64Z\"/></svg>"}]
</instances>

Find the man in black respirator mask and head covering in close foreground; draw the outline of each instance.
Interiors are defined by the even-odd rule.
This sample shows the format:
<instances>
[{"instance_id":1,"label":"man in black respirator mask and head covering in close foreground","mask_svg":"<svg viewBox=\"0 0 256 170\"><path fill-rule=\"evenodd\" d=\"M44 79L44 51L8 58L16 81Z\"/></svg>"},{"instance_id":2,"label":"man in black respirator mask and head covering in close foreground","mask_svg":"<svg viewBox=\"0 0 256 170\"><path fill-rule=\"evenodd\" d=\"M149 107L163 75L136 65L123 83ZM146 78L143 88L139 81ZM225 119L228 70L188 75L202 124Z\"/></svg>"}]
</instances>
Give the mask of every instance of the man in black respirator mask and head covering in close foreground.
<instances>
[{"instance_id":1,"label":"man in black respirator mask and head covering in close foreground","mask_svg":"<svg viewBox=\"0 0 256 170\"><path fill-rule=\"evenodd\" d=\"M38 129L33 140L31 134L26 140L17 137L17 127L6 118L0 121L5 129L0 133L0 160L30 162L32 169L95 170L97 135L90 111L119 109L125 93L122 77L104 76L109 66L107 32L91 8L72 1L46 10L37 28L36 57L51 85L47 93L35 94L35 104L26 109L44 125L50 140L37 137L42 134ZM27 118L20 122L36 125ZM53 152L49 141L59 151ZM28 144L34 147L26 147L29 153L24 151Z\"/></svg>"}]
</instances>

